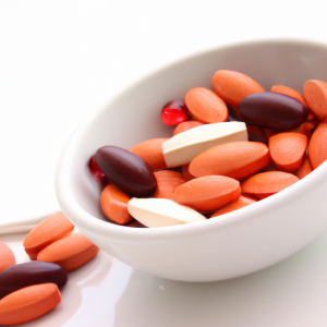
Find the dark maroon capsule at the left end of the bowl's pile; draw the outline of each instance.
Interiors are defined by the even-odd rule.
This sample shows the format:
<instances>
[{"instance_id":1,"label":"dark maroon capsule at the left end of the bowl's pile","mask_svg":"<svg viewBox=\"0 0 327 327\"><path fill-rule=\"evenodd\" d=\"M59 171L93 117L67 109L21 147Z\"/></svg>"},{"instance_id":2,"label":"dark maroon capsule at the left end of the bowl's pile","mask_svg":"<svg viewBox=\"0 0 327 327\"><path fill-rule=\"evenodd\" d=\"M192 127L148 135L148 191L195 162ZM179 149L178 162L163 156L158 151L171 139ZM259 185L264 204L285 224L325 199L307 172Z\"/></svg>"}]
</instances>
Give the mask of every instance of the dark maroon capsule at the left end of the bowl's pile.
<instances>
[{"instance_id":1,"label":"dark maroon capsule at the left end of the bowl's pile","mask_svg":"<svg viewBox=\"0 0 327 327\"><path fill-rule=\"evenodd\" d=\"M108 145L100 147L95 156L99 168L112 184L130 196L147 196L157 187L153 169L135 154Z\"/></svg>"}]
</instances>

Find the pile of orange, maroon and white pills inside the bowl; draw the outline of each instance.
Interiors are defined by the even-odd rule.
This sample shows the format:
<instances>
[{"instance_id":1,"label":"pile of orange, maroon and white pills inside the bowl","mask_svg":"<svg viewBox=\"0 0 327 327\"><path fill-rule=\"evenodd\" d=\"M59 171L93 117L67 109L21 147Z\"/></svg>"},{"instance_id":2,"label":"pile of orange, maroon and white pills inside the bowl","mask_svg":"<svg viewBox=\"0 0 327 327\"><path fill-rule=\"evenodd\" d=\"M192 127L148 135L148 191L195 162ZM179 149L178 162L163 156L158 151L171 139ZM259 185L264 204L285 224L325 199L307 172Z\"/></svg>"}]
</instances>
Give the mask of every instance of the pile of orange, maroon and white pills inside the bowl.
<instances>
[{"instance_id":1,"label":"pile of orange, maroon and white pills inside the bowl","mask_svg":"<svg viewBox=\"0 0 327 327\"><path fill-rule=\"evenodd\" d=\"M304 81L305 82L305 81ZM214 218L292 185L327 159L327 83L270 92L219 70L161 109L168 138L97 149L88 161L112 222L166 227ZM216 218L217 219L217 218Z\"/></svg>"}]
</instances>

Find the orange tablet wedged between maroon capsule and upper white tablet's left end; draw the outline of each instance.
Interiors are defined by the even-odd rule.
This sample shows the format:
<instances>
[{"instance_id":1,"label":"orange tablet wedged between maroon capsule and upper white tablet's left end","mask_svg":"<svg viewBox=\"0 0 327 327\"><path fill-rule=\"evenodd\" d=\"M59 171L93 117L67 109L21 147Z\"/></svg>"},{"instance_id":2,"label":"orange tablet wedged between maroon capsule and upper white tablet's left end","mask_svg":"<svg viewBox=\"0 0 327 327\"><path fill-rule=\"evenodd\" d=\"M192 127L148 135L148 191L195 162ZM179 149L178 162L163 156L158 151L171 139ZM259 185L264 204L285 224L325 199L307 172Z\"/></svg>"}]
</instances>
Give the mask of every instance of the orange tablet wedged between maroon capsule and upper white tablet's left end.
<instances>
[{"instance_id":1,"label":"orange tablet wedged between maroon capsule and upper white tablet's left end","mask_svg":"<svg viewBox=\"0 0 327 327\"><path fill-rule=\"evenodd\" d=\"M167 138L152 138L141 142L130 148L130 152L146 161L153 170L167 168L162 154L162 143Z\"/></svg>"}]
</instances>

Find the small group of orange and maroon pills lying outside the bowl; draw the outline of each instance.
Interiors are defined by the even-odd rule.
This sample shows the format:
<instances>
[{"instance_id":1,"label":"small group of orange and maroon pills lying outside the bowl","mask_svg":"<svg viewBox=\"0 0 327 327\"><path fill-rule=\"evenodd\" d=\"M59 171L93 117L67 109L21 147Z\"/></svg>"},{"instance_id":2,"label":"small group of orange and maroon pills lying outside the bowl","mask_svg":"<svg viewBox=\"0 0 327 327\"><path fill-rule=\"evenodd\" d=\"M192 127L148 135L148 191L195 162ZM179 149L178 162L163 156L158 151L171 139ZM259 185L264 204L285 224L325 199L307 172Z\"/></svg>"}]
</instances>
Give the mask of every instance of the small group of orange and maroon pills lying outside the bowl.
<instances>
[{"instance_id":1,"label":"small group of orange and maroon pills lying outside the bowl","mask_svg":"<svg viewBox=\"0 0 327 327\"><path fill-rule=\"evenodd\" d=\"M43 220L25 238L23 246L32 259L16 264L12 250L0 241L0 325L12 326L36 319L61 301L59 288L68 271L89 262L99 249L62 214Z\"/></svg>"}]
</instances>

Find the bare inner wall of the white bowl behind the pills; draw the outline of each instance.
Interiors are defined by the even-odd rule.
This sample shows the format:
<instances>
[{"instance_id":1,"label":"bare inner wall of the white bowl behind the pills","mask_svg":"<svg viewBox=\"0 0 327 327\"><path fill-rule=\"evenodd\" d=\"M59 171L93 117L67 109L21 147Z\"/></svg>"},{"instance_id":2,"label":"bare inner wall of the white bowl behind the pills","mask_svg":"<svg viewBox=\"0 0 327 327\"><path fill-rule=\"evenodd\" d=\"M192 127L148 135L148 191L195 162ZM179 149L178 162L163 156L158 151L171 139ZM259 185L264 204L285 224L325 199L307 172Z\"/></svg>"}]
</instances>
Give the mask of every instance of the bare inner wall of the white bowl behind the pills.
<instances>
[{"instance_id":1,"label":"bare inner wall of the white bowl behind the pills","mask_svg":"<svg viewBox=\"0 0 327 327\"><path fill-rule=\"evenodd\" d=\"M110 104L92 113L78 126L64 158L66 186L81 209L108 222L99 205L100 190L90 177L87 161L97 148L116 145L130 148L154 137L172 135L161 122L162 106L183 100L192 87L211 88L217 70L234 70L257 81L266 90L286 85L302 93L307 80L327 80L327 47L306 41L259 41L229 46L199 53L164 68L132 85ZM180 228L183 228L182 226Z\"/></svg>"}]
</instances>

